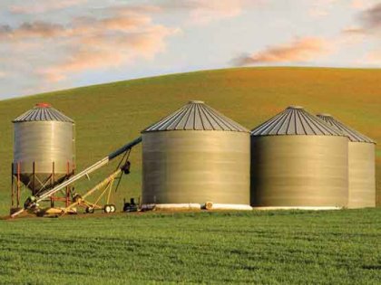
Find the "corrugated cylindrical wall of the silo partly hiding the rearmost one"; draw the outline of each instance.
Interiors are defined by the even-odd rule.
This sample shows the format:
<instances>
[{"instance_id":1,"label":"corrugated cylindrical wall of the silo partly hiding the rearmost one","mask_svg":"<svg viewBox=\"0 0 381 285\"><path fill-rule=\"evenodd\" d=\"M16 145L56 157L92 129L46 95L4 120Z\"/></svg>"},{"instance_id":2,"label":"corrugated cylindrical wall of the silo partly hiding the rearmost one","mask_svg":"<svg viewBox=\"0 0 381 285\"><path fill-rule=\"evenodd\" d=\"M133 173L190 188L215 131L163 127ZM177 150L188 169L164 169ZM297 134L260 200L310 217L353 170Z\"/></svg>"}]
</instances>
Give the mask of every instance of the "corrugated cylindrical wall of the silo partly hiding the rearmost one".
<instances>
[{"instance_id":1,"label":"corrugated cylindrical wall of the silo partly hiding the rearmost one","mask_svg":"<svg viewBox=\"0 0 381 285\"><path fill-rule=\"evenodd\" d=\"M347 138L251 137L251 204L347 206Z\"/></svg>"}]
</instances>

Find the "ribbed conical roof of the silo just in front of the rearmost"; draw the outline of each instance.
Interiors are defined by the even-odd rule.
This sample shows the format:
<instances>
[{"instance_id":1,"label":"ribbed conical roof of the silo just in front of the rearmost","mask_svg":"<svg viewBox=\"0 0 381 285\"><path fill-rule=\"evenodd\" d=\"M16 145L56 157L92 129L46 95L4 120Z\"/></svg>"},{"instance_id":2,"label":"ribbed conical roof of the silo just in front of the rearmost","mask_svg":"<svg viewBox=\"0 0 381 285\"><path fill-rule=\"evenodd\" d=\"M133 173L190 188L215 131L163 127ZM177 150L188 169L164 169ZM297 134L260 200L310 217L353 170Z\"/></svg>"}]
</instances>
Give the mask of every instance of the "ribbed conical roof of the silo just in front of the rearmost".
<instances>
[{"instance_id":1,"label":"ribbed conical roof of the silo just in front of the rearmost","mask_svg":"<svg viewBox=\"0 0 381 285\"><path fill-rule=\"evenodd\" d=\"M316 116L300 106L289 106L275 117L251 130L251 136L343 136Z\"/></svg>"}]
</instances>

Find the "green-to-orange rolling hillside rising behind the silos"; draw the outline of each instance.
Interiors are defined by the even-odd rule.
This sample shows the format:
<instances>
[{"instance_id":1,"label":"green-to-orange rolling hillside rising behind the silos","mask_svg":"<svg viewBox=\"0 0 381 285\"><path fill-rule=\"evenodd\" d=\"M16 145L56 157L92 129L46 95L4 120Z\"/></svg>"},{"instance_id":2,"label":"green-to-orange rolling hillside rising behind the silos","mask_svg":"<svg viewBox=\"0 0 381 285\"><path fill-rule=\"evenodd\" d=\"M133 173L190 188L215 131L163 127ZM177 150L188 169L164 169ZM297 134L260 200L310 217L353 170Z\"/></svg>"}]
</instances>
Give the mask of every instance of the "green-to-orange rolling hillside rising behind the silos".
<instances>
[{"instance_id":1,"label":"green-to-orange rolling hillside rising behind the silos","mask_svg":"<svg viewBox=\"0 0 381 285\"><path fill-rule=\"evenodd\" d=\"M199 71L120 81L0 101L0 213L9 208L13 128L11 120L35 103L47 101L76 122L77 168L83 169L140 131L180 108L188 100L211 107L247 128L288 105L312 113L328 112L366 136L381 141L381 70L321 68L244 68ZM377 186L381 181L381 147L377 147ZM118 197L141 191L141 147L132 151L132 174L123 178ZM91 184L114 165L92 176ZM77 187L86 187L84 181ZM118 200L118 205L121 201Z\"/></svg>"}]
</instances>

